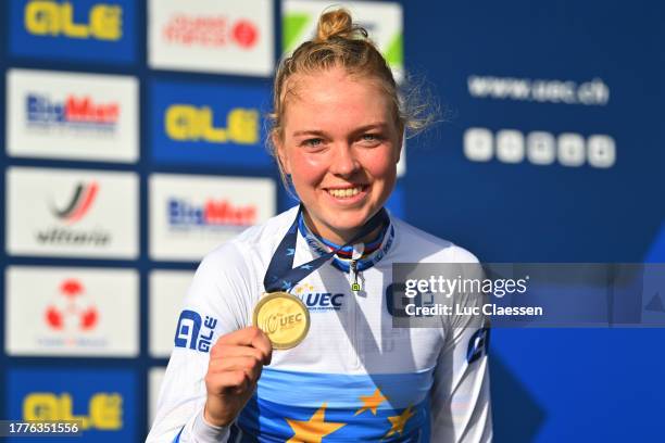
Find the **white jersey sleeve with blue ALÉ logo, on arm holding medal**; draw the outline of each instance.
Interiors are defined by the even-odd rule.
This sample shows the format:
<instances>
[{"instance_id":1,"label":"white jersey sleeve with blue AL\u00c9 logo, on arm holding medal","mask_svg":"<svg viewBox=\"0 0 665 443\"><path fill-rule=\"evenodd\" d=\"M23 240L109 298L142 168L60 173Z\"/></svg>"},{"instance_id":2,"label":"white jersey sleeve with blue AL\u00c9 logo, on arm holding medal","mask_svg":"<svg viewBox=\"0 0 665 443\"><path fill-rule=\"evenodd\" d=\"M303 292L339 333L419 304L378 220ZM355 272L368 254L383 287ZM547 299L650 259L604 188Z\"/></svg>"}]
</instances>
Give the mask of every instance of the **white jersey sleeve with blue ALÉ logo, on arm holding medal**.
<instances>
[{"instance_id":1,"label":"white jersey sleeve with blue AL\u00c9 logo, on arm holding medal","mask_svg":"<svg viewBox=\"0 0 665 443\"><path fill-rule=\"evenodd\" d=\"M251 264L239 245L226 243L199 265L174 337L147 442L226 442L228 428L203 420L210 349L228 332L247 326L252 291Z\"/></svg>"}]
</instances>

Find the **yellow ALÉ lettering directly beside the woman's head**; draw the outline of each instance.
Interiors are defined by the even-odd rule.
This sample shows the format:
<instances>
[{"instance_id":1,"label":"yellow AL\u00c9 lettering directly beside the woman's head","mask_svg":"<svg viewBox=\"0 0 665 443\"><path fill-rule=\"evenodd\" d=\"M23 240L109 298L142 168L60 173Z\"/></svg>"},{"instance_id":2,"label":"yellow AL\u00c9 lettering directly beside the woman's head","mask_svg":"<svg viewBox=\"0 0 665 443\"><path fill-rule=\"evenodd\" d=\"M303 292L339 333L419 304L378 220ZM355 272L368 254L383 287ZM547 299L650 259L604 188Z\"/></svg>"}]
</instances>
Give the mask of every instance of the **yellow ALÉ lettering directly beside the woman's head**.
<instances>
[{"instance_id":1,"label":"yellow AL\u00c9 lettering directly beside the woman's head","mask_svg":"<svg viewBox=\"0 0 665 443\"><path fill-rule=\"evenodd\" d=\"M255 144L259 142L259 111L234 107L226 115L226 127L215 127L210 106L173 104L164 114L166 135L176 141Z\"/></svg>"}]
</instances>

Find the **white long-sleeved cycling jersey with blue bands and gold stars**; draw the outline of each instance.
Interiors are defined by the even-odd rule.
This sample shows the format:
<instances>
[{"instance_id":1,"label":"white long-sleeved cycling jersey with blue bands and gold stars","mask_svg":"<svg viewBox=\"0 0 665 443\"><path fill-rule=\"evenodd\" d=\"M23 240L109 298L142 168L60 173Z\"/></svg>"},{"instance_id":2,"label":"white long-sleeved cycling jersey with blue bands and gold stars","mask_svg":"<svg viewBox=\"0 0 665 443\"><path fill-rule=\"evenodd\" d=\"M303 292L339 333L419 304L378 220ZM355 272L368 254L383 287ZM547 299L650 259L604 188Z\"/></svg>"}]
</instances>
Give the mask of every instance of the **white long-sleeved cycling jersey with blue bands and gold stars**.
<instances>
[{"instance_id":1,"label":"white long-sleeved cycling jersey with blue bands and gold stars","mask_svg":"<svg viewBox=\"0 0 665 443\"><path fill-rule=\"evenodd\" d=\"M273 351L256 392L233 426L203 420L209 351L251 325L263 279L297 208L255 226L199 266L148 442L489 442L492 439L487 330L393 328L387 296L393 263L476 263L462 248L390 216L373 266L352 277L325 264L291 293L310 311L296 347ZM293 265L319 252L299 233ZM472 357L473 356L473 357Z\"/></svg>"}]
</instances>

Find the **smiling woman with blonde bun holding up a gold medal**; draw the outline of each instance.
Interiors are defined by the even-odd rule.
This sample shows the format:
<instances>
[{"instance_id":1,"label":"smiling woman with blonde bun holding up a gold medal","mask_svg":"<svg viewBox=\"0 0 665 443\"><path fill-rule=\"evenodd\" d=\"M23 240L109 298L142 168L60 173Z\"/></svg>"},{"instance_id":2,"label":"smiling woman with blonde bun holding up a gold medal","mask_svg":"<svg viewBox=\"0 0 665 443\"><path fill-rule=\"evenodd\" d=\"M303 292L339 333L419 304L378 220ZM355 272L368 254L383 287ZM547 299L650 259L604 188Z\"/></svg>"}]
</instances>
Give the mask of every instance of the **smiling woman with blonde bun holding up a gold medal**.
<instances>
[{"instance_id":1,"label":"smiling woman with blonde bun holding up a gold medal","mask_svg":"<svg viewBox=\"0 0 665 443\"><path fill-rule=\"evenodd\" d=\"M491 441L478 329L392 327L393 263L476 258L382 210L418 124L386 61L347 11L327 12L274 93L274 154L301 205L201 263L148 441ZM286 345L252 318L275 291L306 303Z\"/></svg>"}]
</instances>

